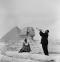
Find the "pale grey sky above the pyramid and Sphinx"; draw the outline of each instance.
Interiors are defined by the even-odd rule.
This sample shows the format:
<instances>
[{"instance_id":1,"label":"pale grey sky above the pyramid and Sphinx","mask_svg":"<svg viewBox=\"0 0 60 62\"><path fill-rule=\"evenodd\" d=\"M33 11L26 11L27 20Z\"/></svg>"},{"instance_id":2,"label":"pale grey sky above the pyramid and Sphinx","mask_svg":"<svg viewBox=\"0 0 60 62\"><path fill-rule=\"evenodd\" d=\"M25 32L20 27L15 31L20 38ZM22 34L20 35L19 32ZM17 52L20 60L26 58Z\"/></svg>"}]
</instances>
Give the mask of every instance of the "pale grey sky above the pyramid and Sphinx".
<instances>
[{"instance_id":1,"label":"pale grey sky above the pyramid and Sphinx","mask_svg":"<svg viewBox=\"0 0 60 62\"><path fill-rule=\"evenodd\" d=\"M0 38L14 26L49 29L50 38L60 39L60 1L0 0Z\"/></svg>"}]
</instances>

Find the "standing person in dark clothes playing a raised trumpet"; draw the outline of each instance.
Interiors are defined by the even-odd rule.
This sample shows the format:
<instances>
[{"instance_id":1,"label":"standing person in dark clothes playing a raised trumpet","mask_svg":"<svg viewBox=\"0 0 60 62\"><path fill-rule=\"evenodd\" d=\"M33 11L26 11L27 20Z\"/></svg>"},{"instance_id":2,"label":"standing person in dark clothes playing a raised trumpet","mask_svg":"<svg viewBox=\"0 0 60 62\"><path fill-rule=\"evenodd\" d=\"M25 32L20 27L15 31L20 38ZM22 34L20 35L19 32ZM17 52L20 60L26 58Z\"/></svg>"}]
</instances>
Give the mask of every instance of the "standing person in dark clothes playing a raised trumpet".
<instances>
[{"instance_id":1,"label":"standing person in dark clothes playing a raised trumpet","mask_svg":"<svg viewBox=\"0 0 60 62\"><path fill-rule=\"evenodd\" d=\"M42 44L42 48L44 51L45 55L49 55L48 53L48 33L49 30L45 30L45 32L43 33L42 30L39 30L39 34L41 36L41 44Z\"/></svg>"}]
</instances>

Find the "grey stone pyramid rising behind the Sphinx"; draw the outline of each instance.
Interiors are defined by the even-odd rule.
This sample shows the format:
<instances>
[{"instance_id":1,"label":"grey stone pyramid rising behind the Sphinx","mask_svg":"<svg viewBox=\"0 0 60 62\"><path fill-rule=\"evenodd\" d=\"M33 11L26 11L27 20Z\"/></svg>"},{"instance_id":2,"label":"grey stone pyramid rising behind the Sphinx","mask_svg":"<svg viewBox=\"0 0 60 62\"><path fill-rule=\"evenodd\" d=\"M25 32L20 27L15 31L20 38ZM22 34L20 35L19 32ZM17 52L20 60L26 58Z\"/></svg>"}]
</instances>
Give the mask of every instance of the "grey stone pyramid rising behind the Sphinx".
<instances>
[{"instance_id":1,"label":"grey stone pyramid rising behind the Sphinx","mask_svg":"<svg viewBox=\"0 0 60 62\"><path fill-rule=\"evenodd\" d=\"M7 34L5 34L0 41L2 42L13 42L13 41L18 41L20 39L19 34L21 33L21 29L18 28L17 26L11 29Z\"/></svg>"}]
</instances>

